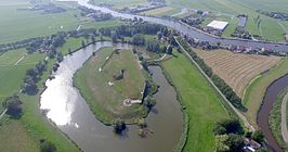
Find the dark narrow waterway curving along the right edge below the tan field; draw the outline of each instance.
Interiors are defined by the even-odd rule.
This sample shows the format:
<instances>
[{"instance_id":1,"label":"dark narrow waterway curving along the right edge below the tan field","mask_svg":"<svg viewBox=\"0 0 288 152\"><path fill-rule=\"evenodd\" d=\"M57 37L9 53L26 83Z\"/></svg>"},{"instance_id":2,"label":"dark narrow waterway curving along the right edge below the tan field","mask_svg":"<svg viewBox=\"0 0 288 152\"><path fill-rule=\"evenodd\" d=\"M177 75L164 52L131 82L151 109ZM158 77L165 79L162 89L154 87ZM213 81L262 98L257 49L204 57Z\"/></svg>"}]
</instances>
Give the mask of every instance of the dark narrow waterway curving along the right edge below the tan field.
<instances>
[{"instance_id":1,"label":"dark narrow waterway curving along the right edge below the tan field","mask_svg":"<svg viewBox=\"0 0 288 152\"><path fill-rule=\"evenodd\" d=\"M263 130L265 138L267 139L269 145L274 152L282 152L283 150L278 145L276 139L273 136L272 130L269 126L269 115L273 107L274 102L277 99L277 96L288 87L288 75L277 79L266 89L265 97L263 99L263 104L258 113L258 125ZM280 113L279 113L280 114ZM280 130L279 130L280 131Z\"/></svg>"}]
</instances>

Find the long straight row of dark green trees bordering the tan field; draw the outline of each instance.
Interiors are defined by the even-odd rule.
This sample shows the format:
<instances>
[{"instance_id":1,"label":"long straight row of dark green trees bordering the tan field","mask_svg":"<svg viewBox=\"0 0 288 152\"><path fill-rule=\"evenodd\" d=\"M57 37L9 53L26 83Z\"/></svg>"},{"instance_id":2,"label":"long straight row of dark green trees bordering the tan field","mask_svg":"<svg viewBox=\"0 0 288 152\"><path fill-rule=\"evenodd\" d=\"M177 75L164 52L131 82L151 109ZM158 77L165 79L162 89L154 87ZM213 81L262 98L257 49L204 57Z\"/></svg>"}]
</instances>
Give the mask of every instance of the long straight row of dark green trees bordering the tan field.
<instances>
[{"instance_id":1,"label":"long straight row of dark green trees bordering the tan field","mask_svg":"<svg viewBox=\"0 0 288 152\"><path fill-rule=\"evenodd\" d=\"M241 111L247 111L243 105L241 99L233 91L233 89L218 75L215 75L211 67L209 67L202 59L200 59L194 51L191 50L191 47L182 39L178 38L180 45L185 49L189 50L188 53L197 62L197 64L202 68L202 71L211 78L214 85L221 90L221 92L226 97L226 99L237 109Z\"/></svg>"}]
</instances>

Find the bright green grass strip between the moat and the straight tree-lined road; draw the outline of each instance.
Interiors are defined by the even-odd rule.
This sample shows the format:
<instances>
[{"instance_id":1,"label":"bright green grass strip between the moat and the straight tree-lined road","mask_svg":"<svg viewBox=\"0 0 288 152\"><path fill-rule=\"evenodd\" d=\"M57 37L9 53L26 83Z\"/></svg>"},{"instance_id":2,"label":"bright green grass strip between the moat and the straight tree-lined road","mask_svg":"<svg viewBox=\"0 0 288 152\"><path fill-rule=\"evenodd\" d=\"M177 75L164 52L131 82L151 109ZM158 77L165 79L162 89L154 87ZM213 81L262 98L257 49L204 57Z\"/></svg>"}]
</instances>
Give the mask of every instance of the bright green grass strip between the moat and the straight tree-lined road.
<instances>
[{"instance_id":1,"label":"bright green grass strip between the moat and the straight tree-lined road","mask_svg":"<svg viewBox=\"0 0 288 152\"><path fill-rule=\"evenodd\" d=\"M184 112L189 116L187 143L184 152L213 151L214 123L228 118L222 99L184 56L174 51L175 58L162 63L163 71L179 92Z\"/></svg>"}]
</instances>

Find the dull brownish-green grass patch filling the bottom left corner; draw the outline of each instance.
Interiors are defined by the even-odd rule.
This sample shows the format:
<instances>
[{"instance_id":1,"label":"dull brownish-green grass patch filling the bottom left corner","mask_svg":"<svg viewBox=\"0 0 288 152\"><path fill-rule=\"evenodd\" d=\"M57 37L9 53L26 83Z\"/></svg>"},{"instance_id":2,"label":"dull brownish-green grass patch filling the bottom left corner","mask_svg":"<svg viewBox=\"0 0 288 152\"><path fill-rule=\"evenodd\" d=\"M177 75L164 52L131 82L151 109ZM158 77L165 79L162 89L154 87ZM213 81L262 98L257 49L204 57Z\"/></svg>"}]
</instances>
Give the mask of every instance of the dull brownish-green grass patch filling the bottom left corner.
<instances>
[{"instance_id":1,"label":"dull brownish-green grass patch filling the bottom left corner","mask_svg":"<svg viewBox=\"0 0 288 152\"><path fill-rule=\"evenodd\" d=\"M39 145L18 121L9 121L0 126L0 150L5 152L39 152Z\"/></svg>"}]
</instances>

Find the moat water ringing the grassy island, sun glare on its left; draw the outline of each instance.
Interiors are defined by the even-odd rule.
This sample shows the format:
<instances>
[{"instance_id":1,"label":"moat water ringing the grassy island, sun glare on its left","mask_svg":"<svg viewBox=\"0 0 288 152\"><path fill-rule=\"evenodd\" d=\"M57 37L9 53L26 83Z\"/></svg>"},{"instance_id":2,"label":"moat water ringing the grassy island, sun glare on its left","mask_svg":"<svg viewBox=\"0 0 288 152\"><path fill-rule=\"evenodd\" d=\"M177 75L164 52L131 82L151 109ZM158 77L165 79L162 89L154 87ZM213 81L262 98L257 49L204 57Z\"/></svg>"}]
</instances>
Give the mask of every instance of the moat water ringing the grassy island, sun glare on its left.
<instances>
[{"instance_id":1,"label":"moat water ringing the grassy island, sun glare on its left","mask_svg":"<svg viewBox=\"0 0 288 152\"><path fill-rule=\"evenodd\" d=\"M113 47L110 42L97 42L67 55L60 64L55 78L45 83L41 94L40 109L49 110L48 118L87 152L169 152L178 144L183 129L183 114L174 89L168 84L160 67L149 67L153 79L160 86L155 94L156 106L146 118L148 129L154 134L146 138L138 136L138 126L128 126L125 136L119 137L99 122L87 102L73 86L73 76L77 69L103 47ZM128 45L114 46L132 49Z\"/></svg>"}]
</instances>

